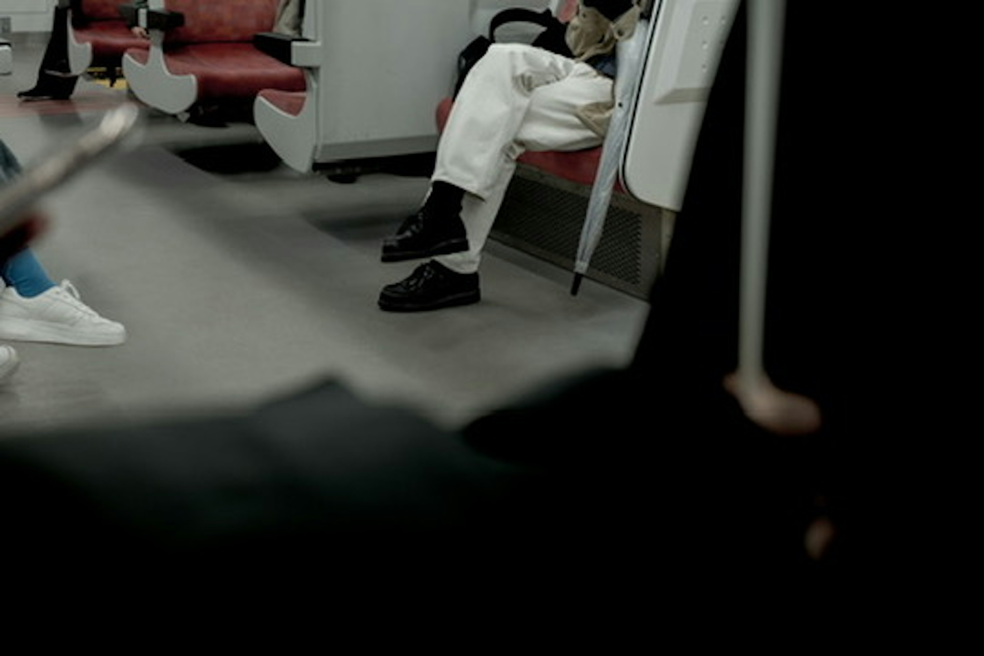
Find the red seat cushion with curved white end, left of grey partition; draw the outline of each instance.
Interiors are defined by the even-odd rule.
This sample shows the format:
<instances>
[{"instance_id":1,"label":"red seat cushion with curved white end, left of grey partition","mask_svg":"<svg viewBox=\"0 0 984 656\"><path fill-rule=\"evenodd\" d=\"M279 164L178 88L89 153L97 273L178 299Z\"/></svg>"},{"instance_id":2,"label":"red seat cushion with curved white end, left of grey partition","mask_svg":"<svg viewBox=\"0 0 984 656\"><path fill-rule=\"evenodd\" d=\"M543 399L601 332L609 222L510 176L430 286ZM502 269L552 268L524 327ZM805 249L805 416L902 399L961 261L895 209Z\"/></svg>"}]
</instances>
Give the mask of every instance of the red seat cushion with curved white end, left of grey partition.
<instances>
[{"instance_id":1,"label":"red seat cushion with curved white end, left of grey partition","mask_svg":"<svg viewBox=\"0 0 984 656\"><path fill-rule=\"evenodd\" d=\"M146 64L146 51L128 51ZM266 55L252 43L196 43L171 47L164 53L173 75L192 75L198 81L198 97L249 98L262 89L303 91L304 73Z\"/></svg>"}]
</instances>

